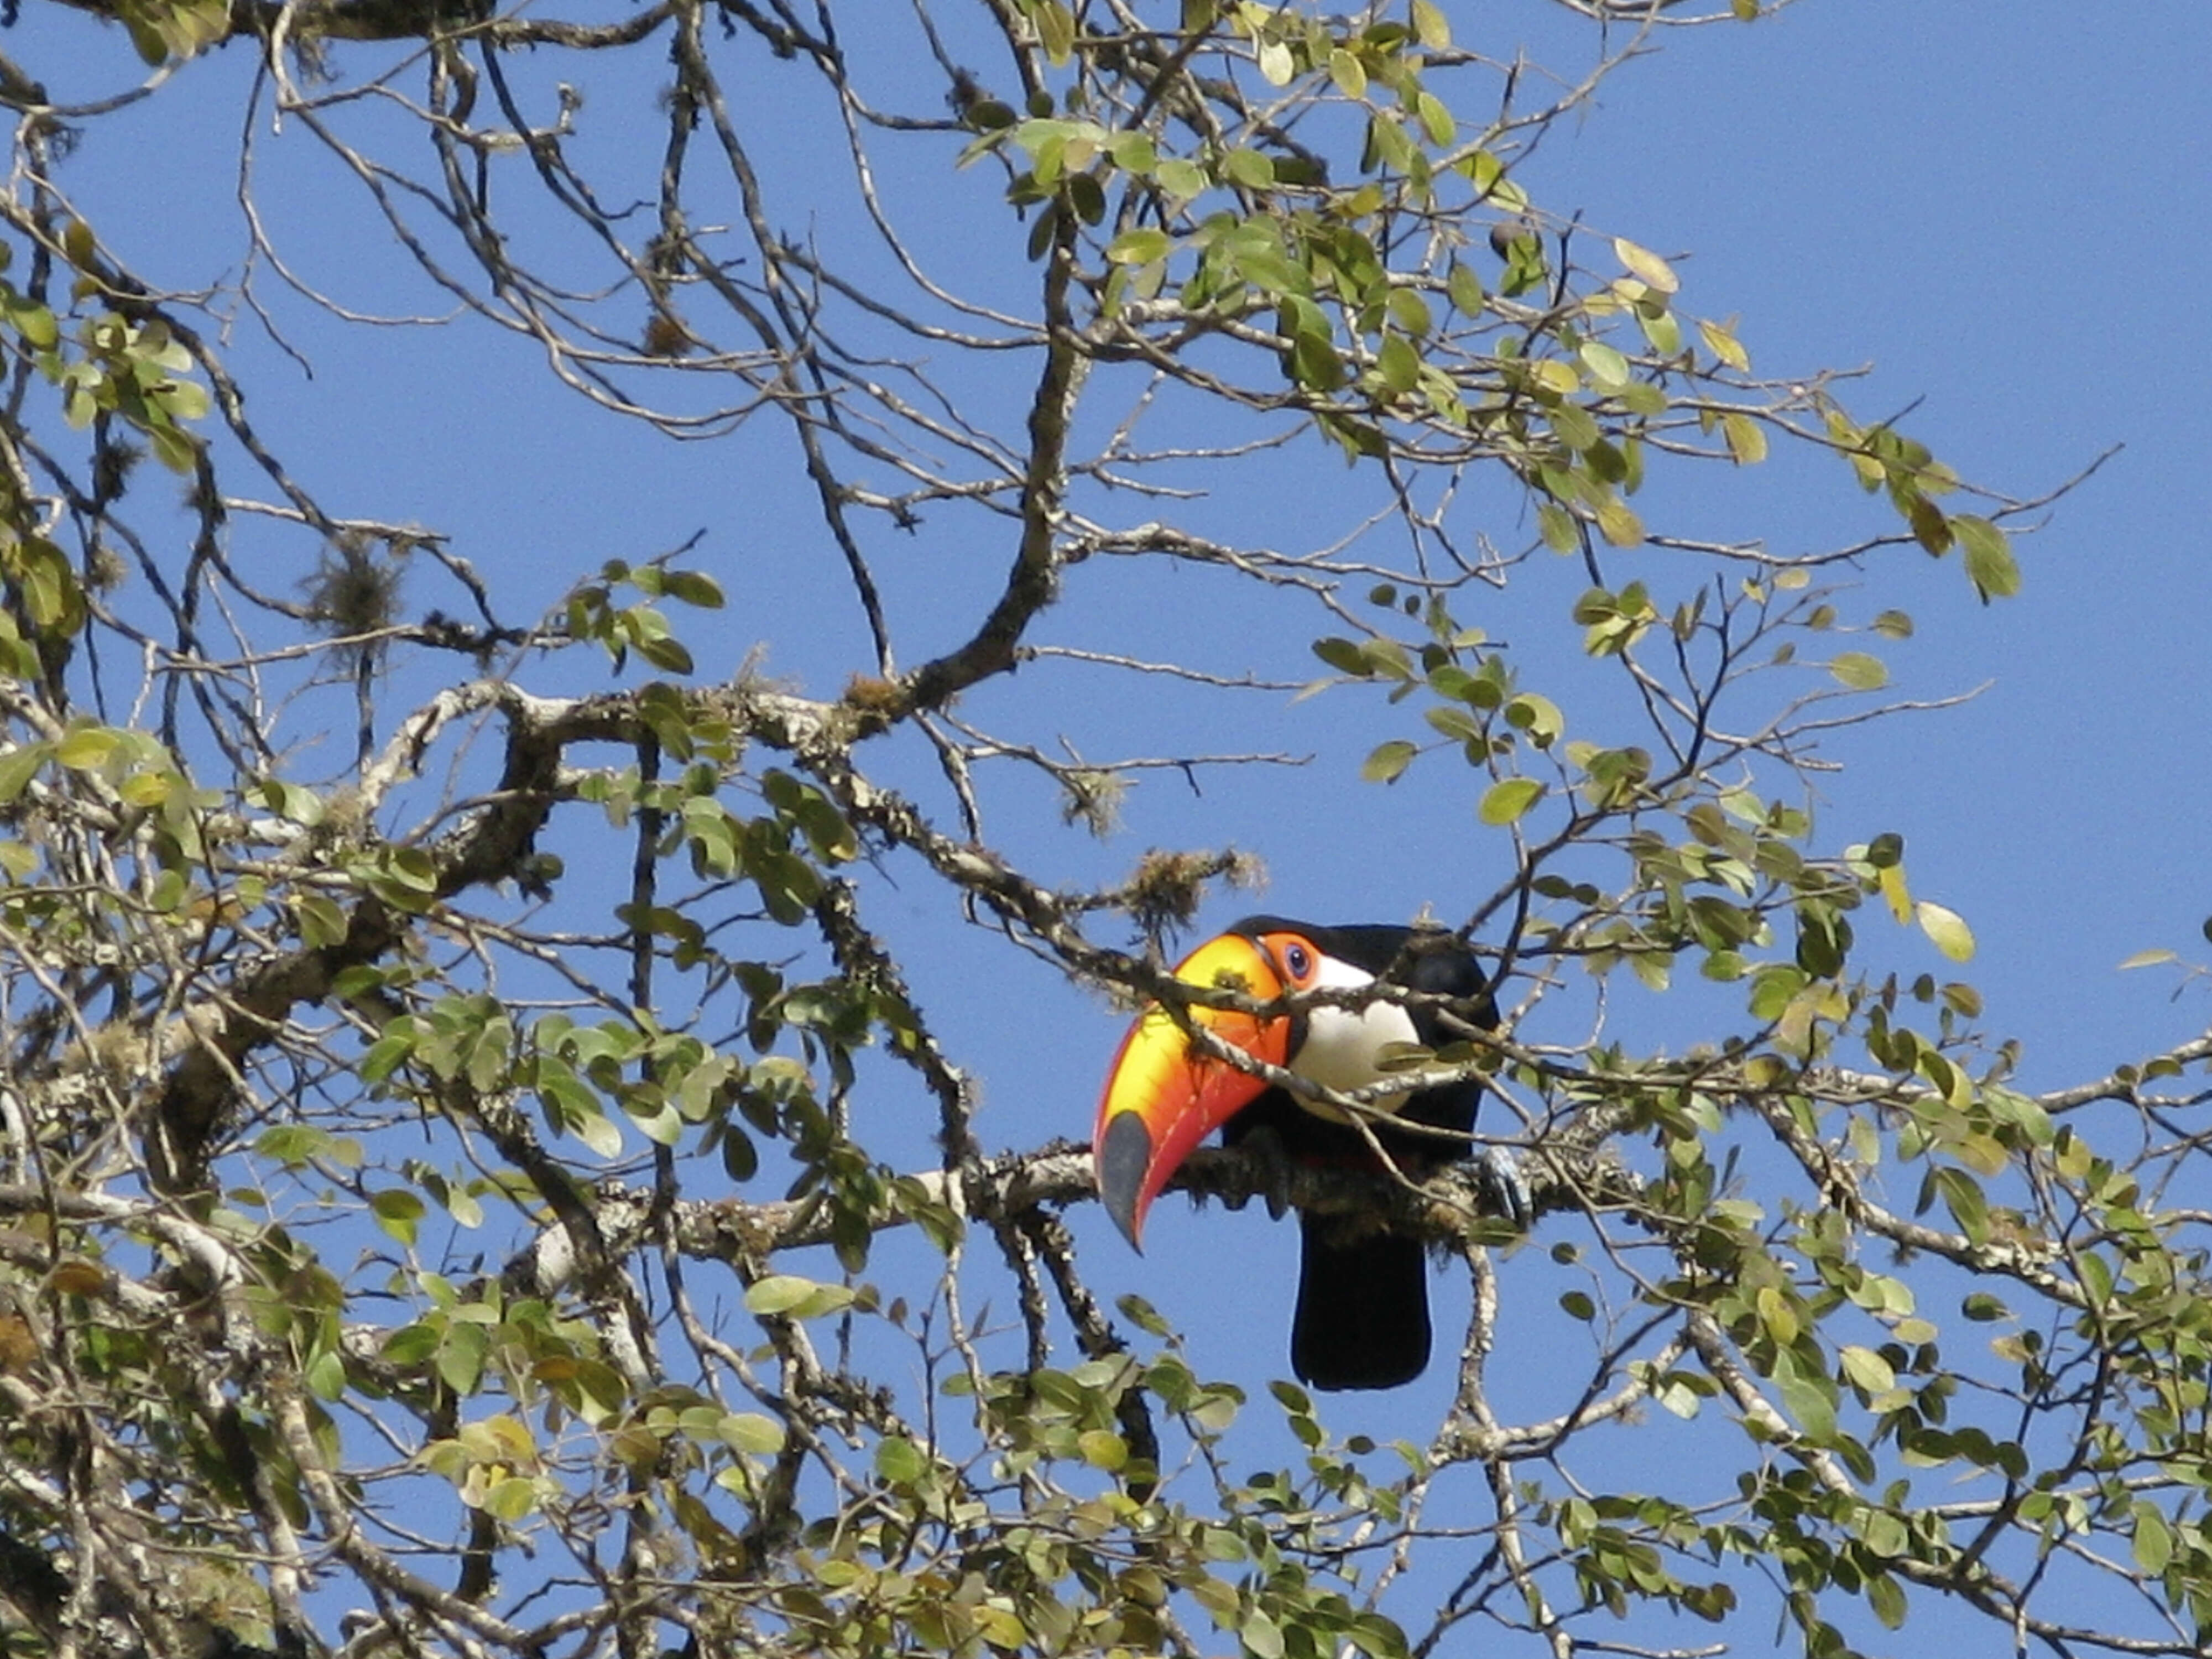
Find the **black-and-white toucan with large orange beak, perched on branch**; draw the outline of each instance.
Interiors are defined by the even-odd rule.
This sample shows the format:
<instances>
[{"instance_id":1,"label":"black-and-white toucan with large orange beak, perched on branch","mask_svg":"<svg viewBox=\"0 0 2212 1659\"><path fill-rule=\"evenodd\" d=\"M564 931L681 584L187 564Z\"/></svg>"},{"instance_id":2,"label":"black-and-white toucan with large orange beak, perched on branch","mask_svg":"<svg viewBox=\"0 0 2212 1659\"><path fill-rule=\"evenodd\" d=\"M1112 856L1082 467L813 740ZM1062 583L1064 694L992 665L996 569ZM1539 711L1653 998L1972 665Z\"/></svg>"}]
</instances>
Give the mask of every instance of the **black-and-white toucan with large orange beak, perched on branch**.
<instances>
[{"instance_id":1,"label":"black-and-white toucan with large orange beak, perched on branch","mask_svg":"<svg viewBox=\"0 0 2212 1659\"><path fill-rule=\"evenodd\" d=\"M1332 1091L1354 1091L1389 1075L1391 1044L1442 1048L1469 1024L1491 1029L1498 1006L1473 953L1440 929L1312 927L1281 916L1248 916L1201 945L1175 969L1190 984L1232 989L1254 1002L1292 991L1356 991L1402 984L1453 998L1458 1029L1440 1004L1387 1000L1303 1006L1281 1015L1190 1004L1190 1024L1232 1048ZM1467 1141L1394 1128L1427 1124L1464 1135L1482 1084L1473 1077L1371 1106L1374 1141L1411 1179L1467 1157ZM1212 1130L1225 1146L1254 1135L1301 1164L1378 1170L1374 1146L1343 1108L1272 1086L1208 1055L1161 1006L1150 1006L1121 1040L1093 1137L1099 1199L1115 1225L1139 1245L1152 1199ZM1489 1186L1526 1221L1526 1194L1509 1159L1486 1168ZM1354 1217L1301 1214L1298 1312L1290 1365L1316 1389L1389 1389L1429 1363L1429 1270L1418 1239L1378 1232Z\"/></svg>"}]
</instances>

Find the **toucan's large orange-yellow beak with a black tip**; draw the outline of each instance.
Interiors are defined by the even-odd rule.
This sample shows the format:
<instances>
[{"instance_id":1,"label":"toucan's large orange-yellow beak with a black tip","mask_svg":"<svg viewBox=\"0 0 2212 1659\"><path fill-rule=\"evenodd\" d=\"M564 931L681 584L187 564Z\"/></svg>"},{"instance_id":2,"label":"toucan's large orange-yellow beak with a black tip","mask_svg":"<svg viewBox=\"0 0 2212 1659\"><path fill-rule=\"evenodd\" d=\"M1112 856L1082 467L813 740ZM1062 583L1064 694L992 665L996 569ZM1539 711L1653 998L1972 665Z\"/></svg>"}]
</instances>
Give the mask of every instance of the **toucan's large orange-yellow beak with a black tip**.
<instances>
[{"instance_id":1,"label":"toucan's large orange-yellow beak with a black tip","mask_svg":"<svg viewBox=\"0 0 2212 1659\"><path fill-rule=\"evenodd\" d=\"M1241 933L1201 945L1183 958L1175 978L1243 991L1256 1002L1283 995L1274 962ZM1190 1024L1272 1066L1287 1062L1287 1018L1194 1006ZM1133 1245L1144 1248L1144 1214L1192 1148L1265 1091L1265 1079L1197 1048L1159 1004L1144 1011L1115 1055L1091 1139L1099 1199Z\"/></svg>"}]
</instances>

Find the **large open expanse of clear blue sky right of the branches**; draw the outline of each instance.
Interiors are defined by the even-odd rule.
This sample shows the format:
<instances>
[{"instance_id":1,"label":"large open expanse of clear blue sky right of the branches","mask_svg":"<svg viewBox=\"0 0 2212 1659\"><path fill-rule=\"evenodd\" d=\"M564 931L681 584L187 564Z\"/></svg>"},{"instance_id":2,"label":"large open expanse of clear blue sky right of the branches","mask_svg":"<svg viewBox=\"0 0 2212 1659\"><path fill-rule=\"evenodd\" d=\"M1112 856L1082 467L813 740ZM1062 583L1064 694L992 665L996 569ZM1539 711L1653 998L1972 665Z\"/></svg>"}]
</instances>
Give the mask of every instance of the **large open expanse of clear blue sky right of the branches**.
<instances>
[{"instance_id":1,"label":"large open expanse of clear blue sky right of the branches","mask_svg":"<svg viewBox=\"0 0 2212 1659\"><path fill-rule=\"evenodd\" d=\"M2035 495L2126 445L2024 540L2017 599L1913 606L1913 688L1989 690L1885 728L1838 785L1838 818L1902 832L1916 883L1973 918L1991 1026L2044 1084L2205 1024L2201 987L2172 1006L2170 978L2115 964L2205 960L2212 914L2185 301L2212 168L2181 69L2208 44L2190 7L1801 4L1619 75L1546 157L1593 212L1692 248L1763 367L1869 361L1854 405L1920 400L1911 429L1971 478Z\"/></svg>"}]
</instances>

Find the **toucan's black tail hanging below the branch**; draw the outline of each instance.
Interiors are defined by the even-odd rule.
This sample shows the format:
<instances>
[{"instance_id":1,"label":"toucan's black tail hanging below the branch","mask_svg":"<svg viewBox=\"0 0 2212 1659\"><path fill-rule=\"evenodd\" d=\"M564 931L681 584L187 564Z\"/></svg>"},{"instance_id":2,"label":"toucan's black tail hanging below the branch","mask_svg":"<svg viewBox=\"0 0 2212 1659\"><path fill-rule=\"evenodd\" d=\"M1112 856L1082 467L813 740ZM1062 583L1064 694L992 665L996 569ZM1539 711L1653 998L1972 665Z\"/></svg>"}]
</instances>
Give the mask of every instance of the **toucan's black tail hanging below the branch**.
<instances>
[{"instance_id":1,"label":"toucan's black tail hanging below the branch","mask_svg":"<svg viewBox=\"0 0 2212 1659\"><path fill-rule=\"evenodd\" d=\"M1316 1389L1394 1389L1429 1363L1429 1261L1420 1239L1343 1237L1298 1217L1298 1314L1290 1369Z\"/></svg>"}]
</instances>

